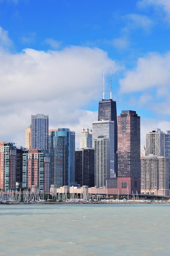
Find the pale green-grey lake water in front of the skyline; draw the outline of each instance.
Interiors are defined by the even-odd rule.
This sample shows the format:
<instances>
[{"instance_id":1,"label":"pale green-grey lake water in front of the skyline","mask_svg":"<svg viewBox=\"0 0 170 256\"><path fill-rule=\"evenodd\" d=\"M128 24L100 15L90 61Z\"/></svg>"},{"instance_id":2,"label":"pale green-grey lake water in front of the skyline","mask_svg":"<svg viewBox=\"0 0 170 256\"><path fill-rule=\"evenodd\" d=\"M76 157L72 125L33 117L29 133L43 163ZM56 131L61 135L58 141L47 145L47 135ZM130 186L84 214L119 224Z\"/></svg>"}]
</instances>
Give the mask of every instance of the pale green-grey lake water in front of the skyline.
<instances>
[{"instance_id":1,"label":"pale green-grey lake water in front of the skyline","mask_svg":"<svg viewBox=\"0 0 170 256\"><path fill-rule=\"evenodd\" d=\"M0 205L0 256L170 255L170 204Z\"/></svg>"}]
</instances>

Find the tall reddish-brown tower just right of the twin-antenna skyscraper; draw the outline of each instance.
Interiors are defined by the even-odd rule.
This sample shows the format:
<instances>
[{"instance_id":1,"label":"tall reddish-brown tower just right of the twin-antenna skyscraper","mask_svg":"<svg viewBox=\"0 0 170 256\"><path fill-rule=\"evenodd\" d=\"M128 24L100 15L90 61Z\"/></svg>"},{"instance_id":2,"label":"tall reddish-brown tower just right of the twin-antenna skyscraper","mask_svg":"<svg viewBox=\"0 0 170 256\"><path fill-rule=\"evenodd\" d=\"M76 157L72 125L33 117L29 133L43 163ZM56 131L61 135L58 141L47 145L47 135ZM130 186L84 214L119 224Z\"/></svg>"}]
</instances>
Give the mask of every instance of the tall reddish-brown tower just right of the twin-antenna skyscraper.
<instances>
[{"instance_id":1,"label":"tall reddish-brown tower just right of the twin-antenna skyscraper","mask_svg":"<svg viewBox=\"0 0 170 256\"><path fill-rule=\"evenodd\" d=\"M117 171L124 178L121 187L140 193L140 117L136 111L122 110L117 117ZM126 182L130 178L130 184ZM129 180L129 179L128 179Z\"/></svg>"}]
</instances>

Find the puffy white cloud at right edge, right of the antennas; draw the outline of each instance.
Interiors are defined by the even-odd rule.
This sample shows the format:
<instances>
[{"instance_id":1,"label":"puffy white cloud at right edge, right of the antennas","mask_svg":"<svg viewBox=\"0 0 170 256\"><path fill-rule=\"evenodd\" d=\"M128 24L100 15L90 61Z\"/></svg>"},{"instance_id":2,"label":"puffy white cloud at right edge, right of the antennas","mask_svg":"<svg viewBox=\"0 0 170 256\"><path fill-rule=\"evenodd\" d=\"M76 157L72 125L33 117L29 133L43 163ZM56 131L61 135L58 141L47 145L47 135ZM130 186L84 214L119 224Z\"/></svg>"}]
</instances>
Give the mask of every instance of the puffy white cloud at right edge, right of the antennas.
<instances>
[{"instance_id":1,"label":"puffy white cloud at right edge, right of the antennas","mask_svg":"<svg viewBox=\"0 0 170 256\"><path fill-rule=\"evenodd\" d=\"M128 71L119 82L121 92L142 92L153 87L161 87L161 93L166 92L164 88L170 87L170 52L139 58L135 69Z\"/></svg>"}]
</instances>

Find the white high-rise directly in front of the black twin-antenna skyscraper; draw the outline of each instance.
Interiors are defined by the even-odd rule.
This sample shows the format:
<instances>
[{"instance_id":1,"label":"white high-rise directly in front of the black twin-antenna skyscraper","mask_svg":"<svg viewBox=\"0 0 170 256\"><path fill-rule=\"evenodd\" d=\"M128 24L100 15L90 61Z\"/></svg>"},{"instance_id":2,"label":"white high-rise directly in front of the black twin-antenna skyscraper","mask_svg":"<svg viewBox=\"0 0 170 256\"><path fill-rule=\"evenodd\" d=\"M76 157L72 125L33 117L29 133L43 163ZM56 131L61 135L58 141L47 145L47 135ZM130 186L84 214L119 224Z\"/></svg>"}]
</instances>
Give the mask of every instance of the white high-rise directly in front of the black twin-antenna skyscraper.
<instances>
[{"instance_id":1,"label":"white high-rise directly in front of the black twin-antenna skyscraper","mask_svg":"<svg viewBox=\"0 0 170 256\"><path fill-rule=\"evenodd\" d=\"M115 129L114 129L114 121L96 121L93 122L93 148L95 148L95 139L97 139L99 136L106 136L106 138L110 139L110 172L108 174L108 177L114 177L115 176L115 152L114 152L114 146L115 146Z\"/></svg>"}]
</instances>

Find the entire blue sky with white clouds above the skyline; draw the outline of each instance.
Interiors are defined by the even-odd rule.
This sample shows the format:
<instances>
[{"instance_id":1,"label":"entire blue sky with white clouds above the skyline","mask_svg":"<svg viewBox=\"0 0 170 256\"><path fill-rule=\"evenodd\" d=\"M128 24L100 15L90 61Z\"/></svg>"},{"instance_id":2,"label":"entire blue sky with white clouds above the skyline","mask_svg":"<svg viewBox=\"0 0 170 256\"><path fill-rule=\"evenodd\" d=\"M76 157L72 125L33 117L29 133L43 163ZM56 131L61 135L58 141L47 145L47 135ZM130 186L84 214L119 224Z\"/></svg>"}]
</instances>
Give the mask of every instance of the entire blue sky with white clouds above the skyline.
<instances>
[{"instance_id":1,"label":"entire blue sky with white clouds above the skyline","mask_svg":"<svg viewBox=\"0 0 170 256\"><path fill-rule=\"evenodd\" d=\"M112 95L146 132L170 130L169 0L0 0L0 141L25 146L31 115L92 128Z\"/></svg>"}]
</instances>

